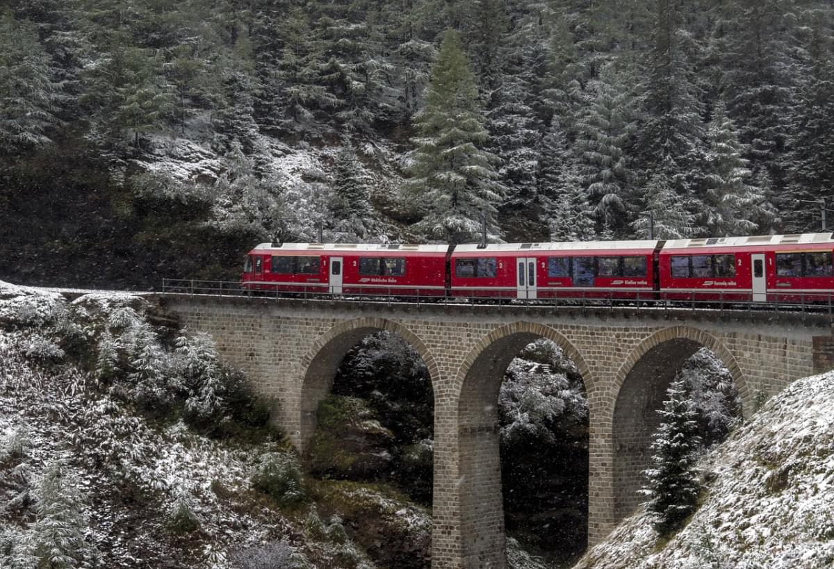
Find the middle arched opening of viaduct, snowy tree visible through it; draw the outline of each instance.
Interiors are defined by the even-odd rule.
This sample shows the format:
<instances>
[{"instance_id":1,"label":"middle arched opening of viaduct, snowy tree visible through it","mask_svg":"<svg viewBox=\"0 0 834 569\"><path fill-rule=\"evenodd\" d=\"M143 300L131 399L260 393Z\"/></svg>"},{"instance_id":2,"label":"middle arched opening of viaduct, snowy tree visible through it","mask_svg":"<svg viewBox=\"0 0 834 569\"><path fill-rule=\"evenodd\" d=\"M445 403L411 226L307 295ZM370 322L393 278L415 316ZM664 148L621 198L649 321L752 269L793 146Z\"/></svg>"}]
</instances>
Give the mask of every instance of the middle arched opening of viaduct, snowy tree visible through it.
<instances>
[{"instance_id":1,"label":"middle arched opening of viaduct, snowy tree visible through it","mask_svg":"<svg viewBox=\"0 0 834 569\"><path fill-rule=\"evenodd\" d=\"M526 323L496 330L470 360L459 405L465 566L518 551L507 535L525 552L565 562L587 543L587 366L558 332Z\"/></svg>"}]
</instances>

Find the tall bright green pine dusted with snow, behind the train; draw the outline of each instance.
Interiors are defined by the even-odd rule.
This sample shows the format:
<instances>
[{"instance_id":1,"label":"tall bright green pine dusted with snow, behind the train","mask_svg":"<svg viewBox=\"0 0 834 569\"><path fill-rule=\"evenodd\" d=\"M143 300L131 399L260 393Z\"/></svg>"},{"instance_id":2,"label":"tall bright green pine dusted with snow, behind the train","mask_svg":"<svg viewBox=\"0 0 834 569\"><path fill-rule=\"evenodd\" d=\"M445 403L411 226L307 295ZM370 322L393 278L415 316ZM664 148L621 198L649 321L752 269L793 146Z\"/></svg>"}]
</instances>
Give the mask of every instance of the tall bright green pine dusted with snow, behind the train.
<instances>
[{"instance_id":1,"label":"tall bright green pine dusted with snow, behind the train","mask_svg":"<svg viewBox=\"0 0 834 569\"><path fill-rule=\"evenodd\" d=\"M415 229L432 239L462 243L477 239L486 214L489 239L500 239L495 206L505 189L495 181L498 158L489 141L478 89L460 38L447 30L431 70L425 108L415 119L412 178L407 182L423 214Z\"/></svg>"}]
</instances>

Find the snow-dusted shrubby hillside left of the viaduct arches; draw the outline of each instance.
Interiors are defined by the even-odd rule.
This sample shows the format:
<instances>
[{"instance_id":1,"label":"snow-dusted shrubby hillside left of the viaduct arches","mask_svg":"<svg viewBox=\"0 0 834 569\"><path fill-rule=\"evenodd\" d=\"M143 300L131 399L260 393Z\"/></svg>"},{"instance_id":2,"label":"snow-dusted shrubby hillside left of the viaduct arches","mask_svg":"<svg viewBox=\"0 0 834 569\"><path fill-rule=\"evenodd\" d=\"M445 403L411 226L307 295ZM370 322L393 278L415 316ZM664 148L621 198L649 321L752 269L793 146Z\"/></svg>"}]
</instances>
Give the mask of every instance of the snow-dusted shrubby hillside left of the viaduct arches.
<instances>
[{"instance_id":1,"label":"snow-dusted shrubby hillside left of the viaduct arches","mask_svg":"<svg viewBox=\"0 0 834 569\"><path fill-rule=\"evenodd\" d=\"M173 380L185 350L168 350L142 305L130 295L68 303L0 281L0 567L394 566L388 552L365 552L357 512L377 520L377 543L425 548L423 508L383 487L309 480L279 433L236 419L210 343L193 342L186 367L219 383L163 415L143 406L156 396L152 368ZM195 422L209 400L224 416Z\"/></svg>"}]
</instances>

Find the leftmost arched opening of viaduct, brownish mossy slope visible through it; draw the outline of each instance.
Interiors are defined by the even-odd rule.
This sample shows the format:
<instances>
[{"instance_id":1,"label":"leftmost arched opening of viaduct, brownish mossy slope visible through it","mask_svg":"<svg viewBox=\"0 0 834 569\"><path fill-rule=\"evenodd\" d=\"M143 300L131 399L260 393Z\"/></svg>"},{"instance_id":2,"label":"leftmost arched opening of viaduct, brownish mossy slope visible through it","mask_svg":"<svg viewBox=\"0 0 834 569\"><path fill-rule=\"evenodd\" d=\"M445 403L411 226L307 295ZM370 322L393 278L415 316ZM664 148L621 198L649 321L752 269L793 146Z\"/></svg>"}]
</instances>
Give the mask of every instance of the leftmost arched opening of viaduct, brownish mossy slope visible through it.
<instances>
[{"instance_id":1,"label":"leftmost arched opening of viaduct, brownish mossy slope visible through it","mask_svg":"<svg viewBox=\"0 0 834 569\"><path fill-rule=\"evenodd\" d=\"M375 565L429 569L430 356L400 325L355 324L325 336L305 377L304 463L319 501L309 515L338 516Z\"/></svg>"}]
</instances>

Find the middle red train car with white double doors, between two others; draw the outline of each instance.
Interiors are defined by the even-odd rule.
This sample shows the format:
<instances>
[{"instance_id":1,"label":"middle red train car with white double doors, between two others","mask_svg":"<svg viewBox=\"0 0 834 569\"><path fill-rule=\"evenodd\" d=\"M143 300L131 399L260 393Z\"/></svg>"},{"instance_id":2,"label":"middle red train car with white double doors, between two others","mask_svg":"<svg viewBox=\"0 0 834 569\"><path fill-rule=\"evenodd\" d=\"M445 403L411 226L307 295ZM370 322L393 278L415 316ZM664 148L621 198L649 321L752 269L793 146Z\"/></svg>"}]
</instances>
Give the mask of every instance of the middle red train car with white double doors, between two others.
<instances>
[{"instance_id":1,"label":"middle red train car with white double doors, between two others","mask_svg":"<svg viewBox=\"0 0 834 569\"><path fill-rule=\"evenodd\" d=\"M650 300L659 242L457 245L450 294L465 297Z\"/></svg>"}]
</instances>

